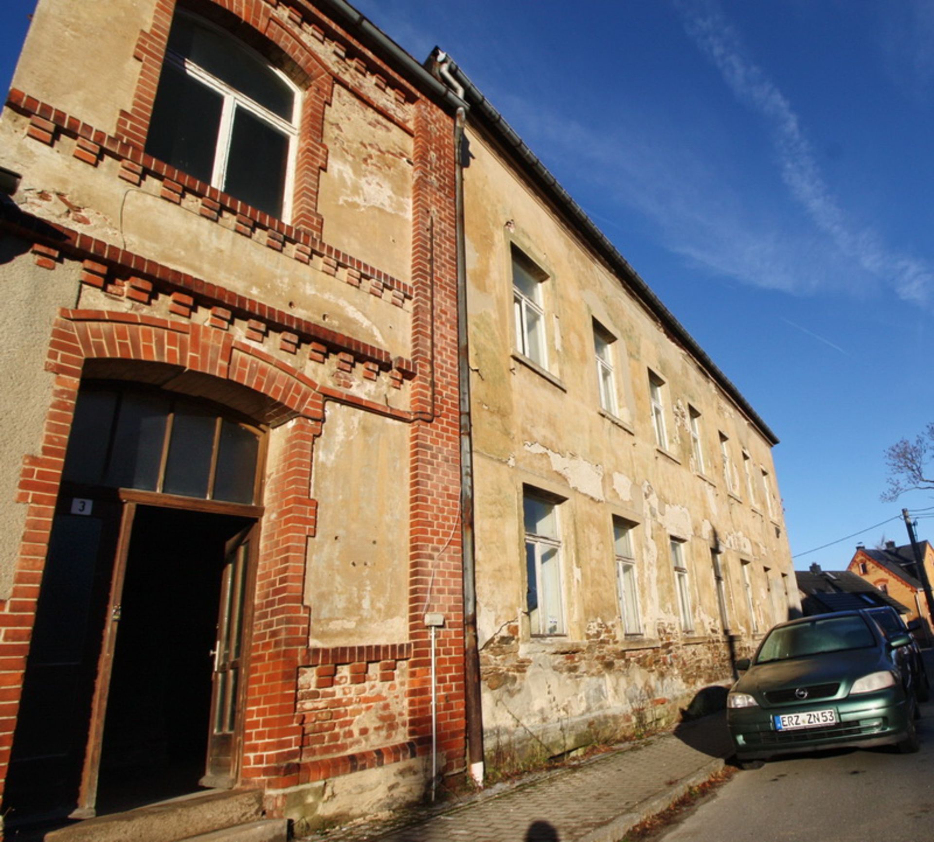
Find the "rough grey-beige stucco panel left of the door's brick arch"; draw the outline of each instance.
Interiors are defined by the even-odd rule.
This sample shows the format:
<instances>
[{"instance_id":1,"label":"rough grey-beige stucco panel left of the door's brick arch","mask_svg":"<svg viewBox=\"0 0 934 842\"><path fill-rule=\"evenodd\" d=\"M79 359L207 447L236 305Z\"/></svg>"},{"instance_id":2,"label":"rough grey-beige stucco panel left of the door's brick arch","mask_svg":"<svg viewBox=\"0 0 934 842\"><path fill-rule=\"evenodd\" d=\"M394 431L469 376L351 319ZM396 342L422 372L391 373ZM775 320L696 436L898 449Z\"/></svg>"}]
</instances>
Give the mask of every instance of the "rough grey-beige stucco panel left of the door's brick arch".
<instances>
[{"instance_id":1,"label":"rough grey-beige stucco panel left of the door's brick arch","mask_svg":"<svg viewBox=\"0 0 934 842\"><path fill-rule=\"evenodd\" d=\"M48 337L58 308L74 303L77 272L39 268L29 244L12 236L0 238L0 268L0 500L10 504L0 518L0 599L7 599L26 519L26 506L12 501L23 457L42 446L54 382L44 370Z\"/></svg>"}]
</instances>

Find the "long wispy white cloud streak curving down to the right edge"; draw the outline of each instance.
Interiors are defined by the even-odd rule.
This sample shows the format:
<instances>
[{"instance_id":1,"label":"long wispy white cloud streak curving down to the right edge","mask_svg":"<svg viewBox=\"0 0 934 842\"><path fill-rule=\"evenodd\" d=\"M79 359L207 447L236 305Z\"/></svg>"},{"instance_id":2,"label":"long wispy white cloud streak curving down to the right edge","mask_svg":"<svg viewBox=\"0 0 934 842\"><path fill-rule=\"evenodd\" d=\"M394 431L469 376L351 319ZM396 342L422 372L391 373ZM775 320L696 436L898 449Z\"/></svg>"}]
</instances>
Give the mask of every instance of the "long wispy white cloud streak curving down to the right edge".
<instances>
[{"instance_id":1,"label":"long wispy white cloud streak curving down to the right edge","mask_svg":"<svg viewBox=\"0 0 934 842\"><path fill-rule=\"evenodd\" d=\"M688 36L719 70L733 95L753 109L771 132L781 177L791 196L833 245L852 255L865 271L890 283L899 297L916 304L931 300L934 275L923 260L888 249L871 228L848 218L828 188L799 115L767 74L752 61L740 34L715 0L678 3Z\"/></svg>"}]
</instances>

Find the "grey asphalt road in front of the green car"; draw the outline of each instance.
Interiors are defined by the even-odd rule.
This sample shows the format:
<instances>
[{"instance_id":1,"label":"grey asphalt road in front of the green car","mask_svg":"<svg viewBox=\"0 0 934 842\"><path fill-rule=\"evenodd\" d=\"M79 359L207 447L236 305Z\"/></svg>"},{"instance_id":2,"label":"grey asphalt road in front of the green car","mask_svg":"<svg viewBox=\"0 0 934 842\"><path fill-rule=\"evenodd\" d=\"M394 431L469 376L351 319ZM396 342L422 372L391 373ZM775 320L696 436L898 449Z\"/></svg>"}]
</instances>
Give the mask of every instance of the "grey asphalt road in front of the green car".
<instances>
[{"instance_id":1,"label":"grey asphalt road in front of the green car","mask_svg":"<svg viewBox=\"0 0 934 842\"><path fill-rule=\"evenodd\" d=\"M928 666L930 675L930 666ZM926 842L934 839L934 702L917 754L841 749L737 772L658 842Z\"/></svg>"}]
</instances>

